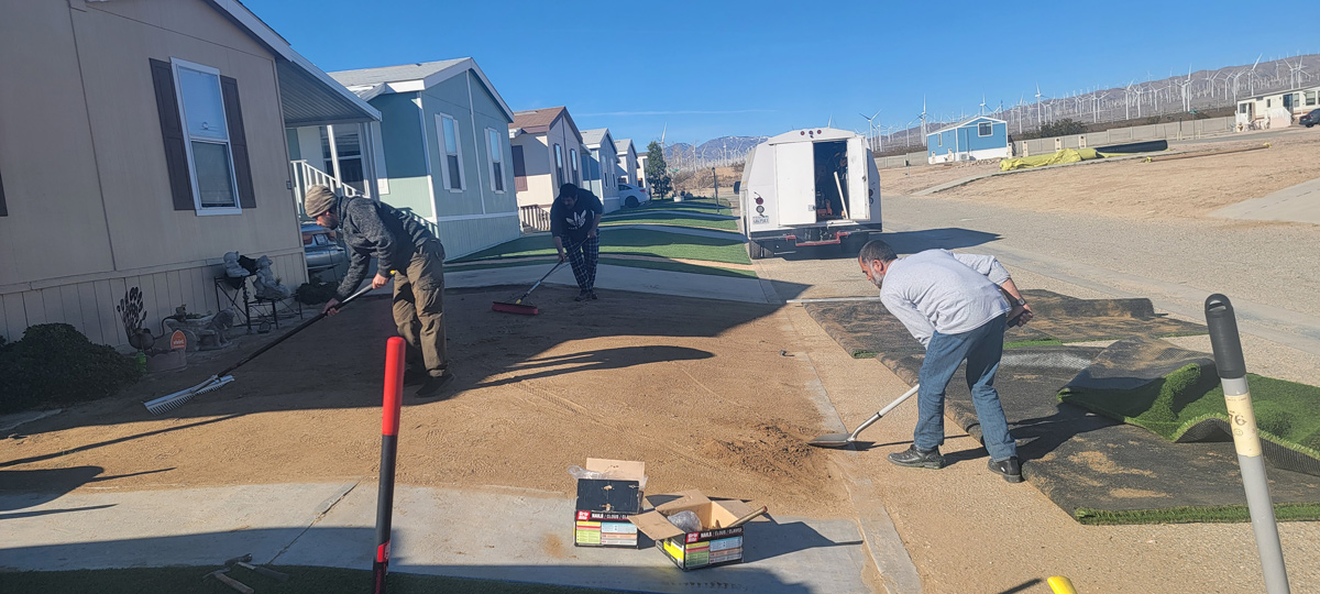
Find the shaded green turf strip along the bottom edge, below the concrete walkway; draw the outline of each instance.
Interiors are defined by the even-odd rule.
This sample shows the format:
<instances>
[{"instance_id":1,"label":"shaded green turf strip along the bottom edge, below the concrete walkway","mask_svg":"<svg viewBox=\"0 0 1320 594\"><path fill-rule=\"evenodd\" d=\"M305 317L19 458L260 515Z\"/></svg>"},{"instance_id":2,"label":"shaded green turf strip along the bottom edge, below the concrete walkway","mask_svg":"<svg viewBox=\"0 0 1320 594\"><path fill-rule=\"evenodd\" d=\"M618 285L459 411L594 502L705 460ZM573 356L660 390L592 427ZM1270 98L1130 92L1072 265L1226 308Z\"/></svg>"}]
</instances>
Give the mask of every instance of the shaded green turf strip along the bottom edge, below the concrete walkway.
<instances>
[{"instance_id":1,"label":"shaded green turf strip along the bottom edge, below the concrete walkway","mask_svg":"<svg viewBox=\"0 0 1320 594\"><path fill-rule=\"evenodd\" d=\"M214 578L202 576L218 568L133 568L96 569L75 572L3 572L0 591L98 593L136 594L144 591L228 591ZM289 574L289 581L277 582L246 569L234 569L226 576L235 578L261 594L359 594L370 591L371 572L335 568L275 566ZM418 576L389 573L391 594L422 594L444 591L450 594L591 594L614 590L552 586L545 583L502 582L445 576Z\"/></svg>"}]
</instances>

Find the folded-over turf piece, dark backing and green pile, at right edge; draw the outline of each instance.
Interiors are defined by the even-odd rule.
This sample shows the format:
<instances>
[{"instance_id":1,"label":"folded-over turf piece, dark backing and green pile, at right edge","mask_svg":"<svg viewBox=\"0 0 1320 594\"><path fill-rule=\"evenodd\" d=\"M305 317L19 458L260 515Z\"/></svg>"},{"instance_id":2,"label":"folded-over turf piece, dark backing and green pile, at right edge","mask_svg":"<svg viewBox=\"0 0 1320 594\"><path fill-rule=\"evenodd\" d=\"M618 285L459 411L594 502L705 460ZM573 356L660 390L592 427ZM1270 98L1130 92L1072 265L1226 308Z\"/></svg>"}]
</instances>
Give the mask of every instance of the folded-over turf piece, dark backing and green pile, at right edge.
<instances>
[{"instance_id":1,"label":"folded-over turf piece, dark backing and green pile, at right edge","mask_svg":"<svg viewBox=\"0 0 1320 594\"><path fill-rule=\"evenodd\" d=\"M1254 374L1247 385L1265 461L1320 477L1320 388ZM1059 400L1180 444L1233 438L1214 362L1164 341L1111 345Z\"/></svg>"}]
</instances>

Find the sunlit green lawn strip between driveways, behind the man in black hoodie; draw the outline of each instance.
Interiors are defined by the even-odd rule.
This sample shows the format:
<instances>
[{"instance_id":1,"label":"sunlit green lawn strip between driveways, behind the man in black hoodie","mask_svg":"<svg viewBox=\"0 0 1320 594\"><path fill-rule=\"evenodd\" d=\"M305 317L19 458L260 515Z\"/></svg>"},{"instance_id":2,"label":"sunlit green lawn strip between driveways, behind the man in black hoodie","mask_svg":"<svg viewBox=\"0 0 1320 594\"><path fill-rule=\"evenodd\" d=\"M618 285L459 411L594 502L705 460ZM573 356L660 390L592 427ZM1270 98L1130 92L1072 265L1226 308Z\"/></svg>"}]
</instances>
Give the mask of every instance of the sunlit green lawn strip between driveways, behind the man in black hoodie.
<instances>
[{"instance_id":1,"label":"sunlit green lawn strip between driveways, behind the man in black hoodie","mask_svg":"<svg viewBox=\"0 0 1320 594\"><path fill-rule=\"evenodd\" d=\"M457 263L490 260L499 257L549 256L554 253L554 243L549 236L539 235L519 238L492 248L482 249L457 260ZM729 264L751 264L743 243L735 239L708 238L702 235L671 234L652 230L614 230L601 235L601 253L636 253L642 256L668 257L673 260L722 261Z\"/></svg>"}]
</instances>

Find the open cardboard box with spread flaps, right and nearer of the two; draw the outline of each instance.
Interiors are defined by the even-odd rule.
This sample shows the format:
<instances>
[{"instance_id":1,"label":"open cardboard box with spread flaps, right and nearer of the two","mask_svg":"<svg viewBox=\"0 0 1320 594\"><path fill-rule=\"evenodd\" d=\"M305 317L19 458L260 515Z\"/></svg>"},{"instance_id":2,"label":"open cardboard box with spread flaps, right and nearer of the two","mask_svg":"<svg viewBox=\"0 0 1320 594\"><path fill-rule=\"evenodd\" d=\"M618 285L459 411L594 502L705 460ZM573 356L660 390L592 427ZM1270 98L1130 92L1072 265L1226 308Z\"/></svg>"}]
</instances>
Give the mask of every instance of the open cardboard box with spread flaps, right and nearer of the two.
<instances>
[{"instance_id":1,"label":"open cardboard box with spread flaps, right and nearer of the two","mask_svg":"<svg viewBox=\"0 0 1320 594\"><path fill-rule=\"evenodd\" d=\"M673 513L692 511L701 520L701 531L684 532L669 523ZM726 527L751 513L752 508L737 499L713 502L701 491L684 491L678 498L656 506L655 510L632 516L631 520L644 535L682 570L714 568L742 562L743 528Z\"/></svg>"}]
</instances>

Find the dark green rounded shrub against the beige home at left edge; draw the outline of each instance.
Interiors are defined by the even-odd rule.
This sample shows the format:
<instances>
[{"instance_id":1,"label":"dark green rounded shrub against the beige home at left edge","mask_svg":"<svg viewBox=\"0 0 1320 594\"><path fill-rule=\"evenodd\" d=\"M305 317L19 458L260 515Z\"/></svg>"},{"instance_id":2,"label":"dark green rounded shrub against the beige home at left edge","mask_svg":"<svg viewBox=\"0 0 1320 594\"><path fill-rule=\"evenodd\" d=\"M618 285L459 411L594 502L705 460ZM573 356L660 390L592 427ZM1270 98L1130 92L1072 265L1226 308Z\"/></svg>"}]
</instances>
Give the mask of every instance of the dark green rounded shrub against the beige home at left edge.
<instances>
[{"instance_id":1,"label":"dark green rounded shrub against the beige home at left edge","mask_svg":"<svg viewBox=\"0 0 1320 594\"><path fill-rule=\"evenodd\" d=\"M40 323L0 347L0 413L112 396L140 376L132 358L73 326Z\"/></svg>"}]
</instances>

